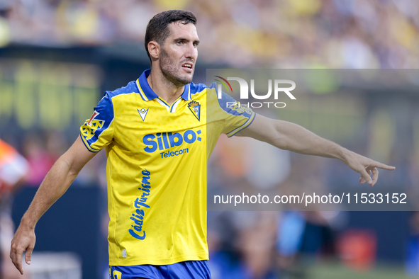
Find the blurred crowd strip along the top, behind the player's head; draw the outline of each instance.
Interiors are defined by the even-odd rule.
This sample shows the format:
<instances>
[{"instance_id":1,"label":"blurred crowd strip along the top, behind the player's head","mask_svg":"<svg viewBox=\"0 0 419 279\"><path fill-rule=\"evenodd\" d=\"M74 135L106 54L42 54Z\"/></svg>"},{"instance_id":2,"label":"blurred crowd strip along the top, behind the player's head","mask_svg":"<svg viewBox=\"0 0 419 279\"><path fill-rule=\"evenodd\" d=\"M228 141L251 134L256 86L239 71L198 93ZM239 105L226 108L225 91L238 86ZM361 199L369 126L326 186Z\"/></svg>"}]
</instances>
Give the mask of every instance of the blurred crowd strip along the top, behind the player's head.
<instances>
[{"instance_id":1,"label":"blurred crowd strip along the top, behind the player's head","mask_svg":"<svg viewBox=\"0 0 419 279\"><path fill-rule=\"evenodd\" d=\"M415 0L3 0L0 45L128 43L160 11L198 18L201 61L233 67L417 68Z\"/></svg>"}]
</instances>

